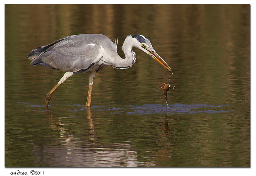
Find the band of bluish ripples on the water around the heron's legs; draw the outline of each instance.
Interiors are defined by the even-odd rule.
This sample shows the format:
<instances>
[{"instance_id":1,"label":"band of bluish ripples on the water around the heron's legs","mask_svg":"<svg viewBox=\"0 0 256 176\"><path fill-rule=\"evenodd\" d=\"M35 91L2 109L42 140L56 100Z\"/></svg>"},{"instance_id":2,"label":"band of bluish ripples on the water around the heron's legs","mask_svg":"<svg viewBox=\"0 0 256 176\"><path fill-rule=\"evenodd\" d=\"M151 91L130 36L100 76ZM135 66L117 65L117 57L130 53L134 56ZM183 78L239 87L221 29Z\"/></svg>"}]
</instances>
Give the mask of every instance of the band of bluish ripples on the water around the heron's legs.
<instances>
[{"instance_id":1,"label":"band of bluish ripples on the water around the heron's legs","mask_svg":"<svg viewBox=\"0 0 256 176\"><path fill-rule=\"evenodd\" d=\"M124 106L92 106L92 111L101 111L106 114L213 114L234 111L231 105L206 105L206 104L144 104L144 105L124 105ZM27 107L36 107L41 110L44 105L28 104ZM39 109L38 109L39 108ZM49 109L55 111L86 111L84 105L51 105ZM43 111L43 110L41 110Z\"/></svg>"}]
</instances>

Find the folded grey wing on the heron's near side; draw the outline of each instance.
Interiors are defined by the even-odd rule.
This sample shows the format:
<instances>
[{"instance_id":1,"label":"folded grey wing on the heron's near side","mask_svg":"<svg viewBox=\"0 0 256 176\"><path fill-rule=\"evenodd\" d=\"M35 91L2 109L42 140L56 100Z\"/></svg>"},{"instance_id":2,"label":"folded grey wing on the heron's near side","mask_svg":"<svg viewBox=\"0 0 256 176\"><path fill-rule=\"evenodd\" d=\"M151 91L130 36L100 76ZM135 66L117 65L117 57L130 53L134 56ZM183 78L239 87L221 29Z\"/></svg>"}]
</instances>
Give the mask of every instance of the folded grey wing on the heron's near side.
<instances>
[{"instance_id":1,"label":"folded grey wing on the heron's near side","mask_svg":"<svg viewBox=\"0 0 256 176\"><path fill-rule=\"evenodd\" d=\"M62 40L38 55L31 65L41 64L62 71L83 72L99 62L102 56L103 48L100 45Z\"/></svg>"}]
</instances>

